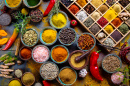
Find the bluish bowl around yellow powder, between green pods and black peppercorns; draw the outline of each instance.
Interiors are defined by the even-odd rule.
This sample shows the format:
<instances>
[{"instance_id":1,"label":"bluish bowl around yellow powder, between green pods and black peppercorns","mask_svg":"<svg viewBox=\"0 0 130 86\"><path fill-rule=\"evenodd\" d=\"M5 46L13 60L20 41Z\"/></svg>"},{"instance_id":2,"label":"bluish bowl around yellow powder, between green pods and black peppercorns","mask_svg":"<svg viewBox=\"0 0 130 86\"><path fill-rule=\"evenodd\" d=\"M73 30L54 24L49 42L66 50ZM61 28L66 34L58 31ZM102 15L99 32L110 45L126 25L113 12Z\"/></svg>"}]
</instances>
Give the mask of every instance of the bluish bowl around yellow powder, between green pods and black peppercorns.
<instances>
[{"instance_id":1,"label":"bluish bowl around yellow powder, between green pods and black peppercorns","mask_svg":"<svg viewBox=\"0 0 130 86\"><path fill-rule=\"evenodd\" d=\"M43 28L43 30L40 32L40 41L41 41L42 44L44 44L44 45L46 45L46 46L51 46L51 45L53 45L53 44L56 43L56 41L57 41L57 36L56 36L55 41L52 42L52 43L46 43L46 42L44 42L43 39L42 39L42 33L43 33L45 30L47 30L47 29L52 29L52 30L56 31L53 27L45 27L45 28ZM56 31L56 32L57 32L57 31Z\"/></svg>"}]
</instances>

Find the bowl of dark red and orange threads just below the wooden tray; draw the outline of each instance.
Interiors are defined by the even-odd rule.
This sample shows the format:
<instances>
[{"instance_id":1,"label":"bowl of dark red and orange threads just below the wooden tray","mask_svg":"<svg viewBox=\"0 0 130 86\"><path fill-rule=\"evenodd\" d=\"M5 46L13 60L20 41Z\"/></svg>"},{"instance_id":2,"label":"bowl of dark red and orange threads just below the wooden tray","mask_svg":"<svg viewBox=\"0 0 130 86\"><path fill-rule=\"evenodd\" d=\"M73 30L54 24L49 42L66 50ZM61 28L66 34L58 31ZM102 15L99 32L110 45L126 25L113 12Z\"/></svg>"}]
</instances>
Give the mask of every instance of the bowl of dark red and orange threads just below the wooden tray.
<instances>
[{"instance_id":1,"label":"bowl of dark red and orange threads just below the wooden tray","mask_svg":"<svg viewBox=\"0 0 130 86\"><path fill-rule=\"evenodd\" d=\"M84 35L87 35L88 37L86 37L86 39L88 39L88 40L85 40L85 37L84 37ZM80 39L80 37L84 37L84 38L81 38ZM90 38L91 37L91 38ZM86 43L84 43L84 42L82 42L84 40L84 42L91 42L91 43L87 43L87 44L90 44L89 45L89 47L88 47L88 49L81 49L81 47L80 46L82 46L82 45L79 45L79 42L81 43L81 44L86 44ZM92 45L91 45L92 44ZM77 47L80 49L80 50L83 50L83 51L88 51L88 50L92 50L94 47L95 47L95 45L96 45L96 39L95 39L95 37L92 35L92 34L90 34L90 33L82 33L79 37L78 37L78 39L77 39ZM86 46L86 45L85 45ZM84 47L84 46L83 46ZM86 47L85 47L86 48Z\"/></svg>"}]
</instances>

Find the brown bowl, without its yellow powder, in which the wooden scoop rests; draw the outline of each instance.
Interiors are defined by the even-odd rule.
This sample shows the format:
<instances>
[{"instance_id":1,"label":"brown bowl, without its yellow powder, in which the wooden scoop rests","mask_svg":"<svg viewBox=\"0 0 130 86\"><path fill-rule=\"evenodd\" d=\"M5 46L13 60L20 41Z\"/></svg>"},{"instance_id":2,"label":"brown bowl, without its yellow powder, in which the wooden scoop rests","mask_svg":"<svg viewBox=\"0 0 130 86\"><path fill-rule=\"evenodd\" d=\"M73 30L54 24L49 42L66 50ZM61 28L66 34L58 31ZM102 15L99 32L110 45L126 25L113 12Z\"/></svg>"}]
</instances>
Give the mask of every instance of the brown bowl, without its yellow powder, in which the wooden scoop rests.
<instances>
[{"instance_id":1,"label":"brown bowl, without its yellow powder, in which the wooden scoop rests","mask_svg":"<svg viewBox=\"0 0 130 86\"><path fill-rule=\"evenodd\" d=\"M84 67L87 66L87 64L88 64L88 59L87 59L87 57L86 57L85 64L84 64L82 67L74 67L74 66L72 65L70 59L71 59L71 56L72 56L74 53L77 53L77 52L81 52L81 53L83 53L83 54L85 53L85 52L82 51L82 50L75 50L75 51L73 51L73 52L69 55L68 62L69 62L70 66L71 66L73 69L75 69L75 70L81 70L81 69L83 69Z\"/></svg>"}]
</instances>

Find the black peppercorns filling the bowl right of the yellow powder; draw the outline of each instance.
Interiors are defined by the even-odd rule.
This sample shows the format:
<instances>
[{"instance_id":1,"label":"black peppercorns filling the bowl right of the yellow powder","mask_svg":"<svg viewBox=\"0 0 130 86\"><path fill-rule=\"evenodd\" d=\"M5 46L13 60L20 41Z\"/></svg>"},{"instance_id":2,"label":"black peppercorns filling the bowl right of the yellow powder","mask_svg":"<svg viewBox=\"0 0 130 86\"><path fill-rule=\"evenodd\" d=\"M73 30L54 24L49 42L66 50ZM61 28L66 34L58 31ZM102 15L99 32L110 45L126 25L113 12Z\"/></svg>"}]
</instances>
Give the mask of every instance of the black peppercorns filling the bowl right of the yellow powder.
<instances>
[{"instance_id":1,"label":"black peppercorns filling the bowl right of the yellow powder","mask_svg":"<svg viewBox=\"0 0 130 86\"><path fill-rule=\"evenodd\" d=\"M75 38L76 33L72 29L66 28L60 31L59 39L64 44L71 44L72 42L74 42Z\"/></svg>"}]
</instances>

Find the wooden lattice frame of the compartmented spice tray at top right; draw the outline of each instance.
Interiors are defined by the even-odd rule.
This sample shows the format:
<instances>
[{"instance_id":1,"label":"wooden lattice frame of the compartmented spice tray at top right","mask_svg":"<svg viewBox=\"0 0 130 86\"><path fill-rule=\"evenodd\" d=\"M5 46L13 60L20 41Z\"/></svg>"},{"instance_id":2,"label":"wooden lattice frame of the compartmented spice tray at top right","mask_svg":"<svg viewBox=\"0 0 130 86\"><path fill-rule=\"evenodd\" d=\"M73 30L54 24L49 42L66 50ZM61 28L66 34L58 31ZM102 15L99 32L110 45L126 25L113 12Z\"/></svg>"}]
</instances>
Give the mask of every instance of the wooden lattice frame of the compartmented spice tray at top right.
<instances>
[{"instance_id":1,"label":"wooden lattice frame of the compartmented spice tray at top right","mask_svg":"<svg viewBox=\"0 0 130 86\"><path fill-rule=\"evenodd\" d=\"M123 7L123 6L120 4L119 0L115 1L115 3L114 3L112 6L110 6L110 5L107 3L107 1L104 1L100 6L95 7L95 6L92 4L92 0L89 0L89 1L86 0L86 1L87 1L86 5L84 5L84 6L82 7L82 6L80 6L80 4L78 4L77 0L73 0L73 1L72 1L72 0L67 0L67 1L69 2L69 4L65 4L65 3L64 3L64 0L61 0L60 3L74 16L74 18L75 18L88 32L90 32L91 34L93 34L94 37L95 37L101 44L104 44L104 41L105 41L107 38L111 38L111 39L113 40L113 42L114 42L113 47L115 47L118 43L120 43L120 41L121 41L123 38L125 38L125 37L130 33L130 24L127 23L127 21L122 21L122 23L121 23L118 27L116 27L116 26L114 26L114 25L112 24L112 21L113 21L116 17L118 17L121 12L124 12L124 11L125 11L125 12L128 12L128 11L126 10L126 7L127 7L128 5L130 5L130 3L128 3L127 6ZM98 2L97 2L97 3L98 3ZM75 13L75 14L72 13L72 12L69 10L69 8L70 8L72 5L74 5L74 4L79 7L79 11L78 11L77 13ZM99 8L100 8L102 5L106 5L106 6L108 7L108 10L109 10L109 9L111 9L115 4L118 4L118 5L121 7L121 12L118 13L118 14L115 12L115 13L117 14L117 16L116 16L113 20L111 20L111 21L109 21L109 20L106 19L106 20L108 21L108 23L107 23L106 25L104 25L104 27L102 27L102 26L98 23L98 21L101 19L101 17L104 17L104 15L106 14L107 11L106 11L104 14L102 14L102 13L99 11ZM88 12L85 10L85 8L86 8L88 5L91 5L91 6L94 8L94 11L93 11L92 13L88 13ZM84 12L87 14L87 18L84 18L83 21L81 21L81 20L79 20L79 19L77 18L77 14L78 14L80 11L84 11ZM92 15L93 15L94 12L98 12L98 13L101 15L101 17L100 17L99 19L97 19L97 20L94 20L93 17L92 17ZM129 13L129 12L128 12L128 13ZM91 19L93 20L93 23L92 23L90 26L86 26L86 25L84 24L84 22L85 22L87 19L89 19L89 18L91 18ZM130 18L129 18L129 19L130 19ZM93 32L90 30L90 28L91 28L94 24L96 24L96 25L98 25L98 26L100 27L100 30L99 30L97 33L93 33ZM126 25L129 27L129 31L127 31L126 34L123 34L123 33L119 30L119 27L120 27L122 24L126 24ZM113 27L113 31L112 31L110 34L107 33L106 30L104 30L104 28L105 28L107 25L111 25L111 26ZM118 33L121 34L121 38L118 39L118 40L115 40L115 39L112 37L112 34L115 34L115 33L114 33L115 31L117 31ZM106 37L104 37L103 39L99 39L97 36L98 36L98 34L99 34L100 32L105 33L105 34L106 34Z\"/></svg>"}]
</instances>

